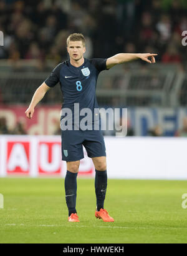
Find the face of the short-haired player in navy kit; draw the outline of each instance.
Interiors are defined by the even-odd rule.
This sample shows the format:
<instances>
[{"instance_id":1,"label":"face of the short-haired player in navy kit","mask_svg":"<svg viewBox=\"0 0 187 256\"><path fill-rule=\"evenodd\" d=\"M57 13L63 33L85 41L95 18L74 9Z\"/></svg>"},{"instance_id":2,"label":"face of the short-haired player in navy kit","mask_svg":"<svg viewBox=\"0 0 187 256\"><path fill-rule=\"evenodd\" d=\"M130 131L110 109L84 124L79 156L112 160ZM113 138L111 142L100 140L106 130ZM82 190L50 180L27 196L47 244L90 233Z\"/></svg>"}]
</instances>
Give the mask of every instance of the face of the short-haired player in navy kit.
<instances>
[{"instance_id":1,"label":"face of the short-haired player in navy kit","mask_svg":"<svg viewBox=\"0 0 187 256\"><path fill-rule=\"evenodd\" d=\"M85 53L85 46L82 44L82 41L69 41L67 51L69 53L70 59L79 61L79 59L81 59Z\"/></svg>"}]
</instances>

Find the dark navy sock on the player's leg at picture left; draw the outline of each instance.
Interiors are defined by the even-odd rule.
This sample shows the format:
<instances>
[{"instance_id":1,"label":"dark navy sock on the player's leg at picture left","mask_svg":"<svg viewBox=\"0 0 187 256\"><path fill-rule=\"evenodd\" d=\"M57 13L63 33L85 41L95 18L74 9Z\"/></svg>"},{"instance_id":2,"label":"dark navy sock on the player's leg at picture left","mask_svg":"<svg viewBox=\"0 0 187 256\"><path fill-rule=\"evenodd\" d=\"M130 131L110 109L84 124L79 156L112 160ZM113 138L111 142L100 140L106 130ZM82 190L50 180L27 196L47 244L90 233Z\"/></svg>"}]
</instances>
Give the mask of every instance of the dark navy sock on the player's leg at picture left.
<instances>
[{"instance_id":1,"label":"dark navy sock on the player's leg at picture left","mask_svg":"<svg viewBox=\"0 0 187 256\"><path fill-rule=\"evenodd\" d=\"M77 198L77 174L67 171L65 175L65 201L69 210L69 216L76 212Z\"/></svg>"}]
</instances>

